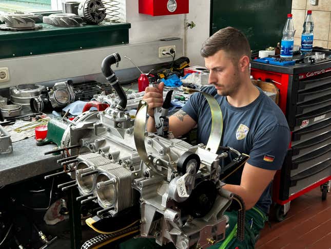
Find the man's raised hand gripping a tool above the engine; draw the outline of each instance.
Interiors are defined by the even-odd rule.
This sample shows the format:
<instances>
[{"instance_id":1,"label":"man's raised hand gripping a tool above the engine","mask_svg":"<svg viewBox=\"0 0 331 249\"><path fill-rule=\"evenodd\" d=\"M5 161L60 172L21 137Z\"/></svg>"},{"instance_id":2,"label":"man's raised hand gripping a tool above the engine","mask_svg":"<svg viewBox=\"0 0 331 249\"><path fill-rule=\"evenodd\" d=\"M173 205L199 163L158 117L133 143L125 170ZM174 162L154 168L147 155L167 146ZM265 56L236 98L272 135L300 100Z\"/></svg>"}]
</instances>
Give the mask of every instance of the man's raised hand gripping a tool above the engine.
<instances>
[{"instance_id":1,"label":"man's raised hand gripping a tool above the engine","mask_svg":"<svg viewBox=\"0 0 331 249\"><path fill-rule=\"evenodd\" d=\"M157 87L148 86L145 89L143 100L148 103L148 115L154 116L154 108L161 107L163 104L164 83L160 82Z\"/></svg>"}]
</instances>

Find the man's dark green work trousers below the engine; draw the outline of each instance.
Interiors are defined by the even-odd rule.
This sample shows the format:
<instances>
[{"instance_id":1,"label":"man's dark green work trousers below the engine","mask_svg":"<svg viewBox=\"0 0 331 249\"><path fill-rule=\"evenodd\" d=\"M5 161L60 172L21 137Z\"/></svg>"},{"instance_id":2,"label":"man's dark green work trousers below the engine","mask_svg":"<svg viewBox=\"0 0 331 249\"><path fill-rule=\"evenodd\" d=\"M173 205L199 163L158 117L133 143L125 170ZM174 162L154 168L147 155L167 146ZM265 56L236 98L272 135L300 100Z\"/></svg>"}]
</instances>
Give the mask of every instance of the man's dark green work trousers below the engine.
<instances>
[{"instance_id":1,"label":"man's dark green work trousers below the engine","mask_svg":"<svg viewBox=\"0 0 331 249\"><path fill-rule=\"evenodd\" d=\"M260 230L264 227L264 222L267 221L267 216L263 211L257 207L253 207L246 211L245 222L245 239L239 241L236 238L237 233L237 214L238 211L227 211L225 215L229 217L229 227L226 229L225 240L211 245L209 249L244 249L254 248L255 238L260 233ZM175 248L172 243L160 246L155 243L155 239L129 239L120 244L120 249L173 249Z\"/></svg>"}]
</instances>

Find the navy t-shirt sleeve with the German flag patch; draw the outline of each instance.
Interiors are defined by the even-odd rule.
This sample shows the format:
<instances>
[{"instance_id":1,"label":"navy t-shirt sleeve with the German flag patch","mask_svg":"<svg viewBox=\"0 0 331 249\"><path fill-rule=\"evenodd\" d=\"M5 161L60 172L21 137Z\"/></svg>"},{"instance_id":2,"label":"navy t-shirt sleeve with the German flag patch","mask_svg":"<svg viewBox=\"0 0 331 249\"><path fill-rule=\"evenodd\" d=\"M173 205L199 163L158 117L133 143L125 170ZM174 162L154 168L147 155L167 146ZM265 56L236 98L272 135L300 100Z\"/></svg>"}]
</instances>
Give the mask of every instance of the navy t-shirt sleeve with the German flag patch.
<instances>
[{"instance_id":1,"label":"navy t-shirt sleeve with the German flag patch","mask_svg":"<svg viewBox=\"0 0 331 249\"><path fill-rule=\"evenodd\" d=\"M290 141L288 127L277 124L259 132L254 139L247 163L255 167L279 170Z\"/></svg>"}]
</instances>

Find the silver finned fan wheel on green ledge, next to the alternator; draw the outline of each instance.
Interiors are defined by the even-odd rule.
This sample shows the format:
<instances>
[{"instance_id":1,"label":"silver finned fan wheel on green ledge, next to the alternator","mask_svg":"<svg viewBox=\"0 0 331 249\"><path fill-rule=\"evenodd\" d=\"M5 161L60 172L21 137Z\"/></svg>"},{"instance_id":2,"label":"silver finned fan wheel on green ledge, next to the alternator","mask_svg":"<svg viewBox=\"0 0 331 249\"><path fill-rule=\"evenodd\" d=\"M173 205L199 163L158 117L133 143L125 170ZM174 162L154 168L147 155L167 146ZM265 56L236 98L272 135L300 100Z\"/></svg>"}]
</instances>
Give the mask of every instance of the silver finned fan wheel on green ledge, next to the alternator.
<instances>
[{"instance_id":1,"label":"silver finned fan wheel on green ledge, next to the alternator","mask_svg":"<svg viewBox=\"0 0 331 249\"><path fill-rule=\"evenodd\" d=\"M72 13L55 13L43 16L43 22L59 27L76 27L83 23L83 19Z\"/></svg>"}]
</instances>

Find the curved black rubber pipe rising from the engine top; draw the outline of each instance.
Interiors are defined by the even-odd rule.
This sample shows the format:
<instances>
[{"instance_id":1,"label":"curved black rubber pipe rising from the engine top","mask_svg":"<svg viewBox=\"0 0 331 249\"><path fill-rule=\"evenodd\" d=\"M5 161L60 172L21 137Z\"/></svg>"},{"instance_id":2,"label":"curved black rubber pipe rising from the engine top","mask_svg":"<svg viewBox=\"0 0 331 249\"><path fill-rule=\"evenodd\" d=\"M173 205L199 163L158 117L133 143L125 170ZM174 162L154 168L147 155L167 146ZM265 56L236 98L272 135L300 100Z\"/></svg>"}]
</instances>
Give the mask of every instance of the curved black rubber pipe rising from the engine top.
<instances>
[{"instance_id":1,"label":"curved black rubber pipe rising from the engine top","mask_svg":"<svg viewBox=\"0 0 331 249\"><path fill-rule=\"evenodd\" d=\"M123 111L125 110L127 104L126 94L124 93L123 88L120 85L119 78L116 77L115 73L110 67L114 63L118 64L119 61L121 61L119 53L109 55L102 61L101 70L103 75L106 77L106 79L114 88L116 94L120 98L120 102L118 103L118 105L116 105L116 108Z\"/></svg>"}]
</instances>

